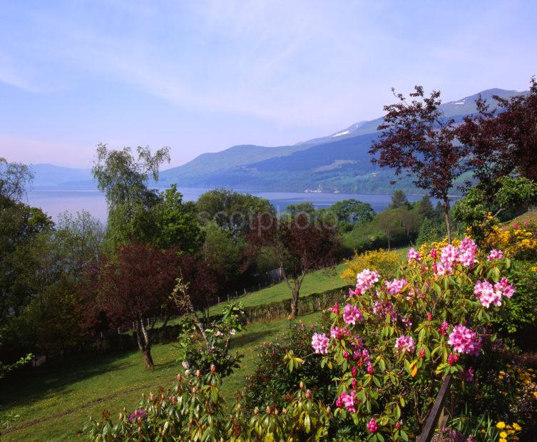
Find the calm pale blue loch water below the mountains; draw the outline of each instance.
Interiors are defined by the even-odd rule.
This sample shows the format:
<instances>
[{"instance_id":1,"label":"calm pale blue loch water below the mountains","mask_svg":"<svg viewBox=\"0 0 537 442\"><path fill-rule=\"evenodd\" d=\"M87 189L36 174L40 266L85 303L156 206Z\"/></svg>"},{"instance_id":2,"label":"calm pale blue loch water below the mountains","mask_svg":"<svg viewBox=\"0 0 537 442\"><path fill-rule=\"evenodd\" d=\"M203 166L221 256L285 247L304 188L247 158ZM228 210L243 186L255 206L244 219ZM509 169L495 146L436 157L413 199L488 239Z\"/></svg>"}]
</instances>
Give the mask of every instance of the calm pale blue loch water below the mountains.
<instances>
[{"instance_id":1,"label":"calm pale blue loch water below the mountains","mask_svg":"<svg viewBox=\"0 0 537 442\"><path fill-rule=\"evenodd\" d=\"M197 200L198 197L207 192L209 189L182 188L184 199L191 201ZM255 190L237 190L238 192L251 193L266 198L277 211L285 210L288 205L298 204L300 202L312 202L315 207L329 207L334 202L354 198L363 202L369 202L375 211L384 210L392 198L391 195L349 195L343 193L299 193L299 192L259 192ZM417 201L421 196L410 195L409 201ZM95 217L106 220L106 202L104 195L98 190L81 190L68 189L63 187L37 187L28 194L30 205L41 207L53 219L56 219L59 213L68 210L77 212L87 210ZM436 204L436 201L433 201Z\"/></svg>"}]
</instances>

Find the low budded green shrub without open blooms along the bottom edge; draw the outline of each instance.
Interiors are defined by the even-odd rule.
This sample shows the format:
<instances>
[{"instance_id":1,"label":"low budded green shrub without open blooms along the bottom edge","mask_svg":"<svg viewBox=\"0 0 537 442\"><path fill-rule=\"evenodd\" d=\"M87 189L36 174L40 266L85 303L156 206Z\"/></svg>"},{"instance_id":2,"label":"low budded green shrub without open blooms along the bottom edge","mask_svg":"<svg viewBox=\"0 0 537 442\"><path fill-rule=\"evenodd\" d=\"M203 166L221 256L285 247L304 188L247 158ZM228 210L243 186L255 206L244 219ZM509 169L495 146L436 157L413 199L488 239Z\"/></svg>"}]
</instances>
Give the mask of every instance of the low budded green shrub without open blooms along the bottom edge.
<instances>
[{"instance_id":1,"label":"low budded green shrub without open blooms along the bottom edge","mask_svg":"<svg viewBox=\"0 0 537 442\"><path fill-rule=\"evenodd\" d=\"M113 423L108 411L90 418L84 432L91 441L329 441L332 413L300 385L282 411L267 407L245 413L239 399L224 411L220 376L215 366L202 376L177 376L173 389L143 396L135 410L125 408Z\"/></svg>"}]
</instances>

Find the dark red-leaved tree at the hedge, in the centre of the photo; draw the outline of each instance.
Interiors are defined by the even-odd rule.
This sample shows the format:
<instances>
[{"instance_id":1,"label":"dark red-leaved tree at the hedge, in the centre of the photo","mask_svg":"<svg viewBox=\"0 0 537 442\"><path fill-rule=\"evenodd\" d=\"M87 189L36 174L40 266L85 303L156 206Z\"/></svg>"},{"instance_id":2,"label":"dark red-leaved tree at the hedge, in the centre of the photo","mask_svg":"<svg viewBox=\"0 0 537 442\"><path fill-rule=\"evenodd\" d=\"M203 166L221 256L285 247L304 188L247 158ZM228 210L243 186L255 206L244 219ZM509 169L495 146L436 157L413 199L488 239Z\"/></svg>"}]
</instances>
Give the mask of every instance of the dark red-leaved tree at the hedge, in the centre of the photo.
<instances>
[{"instance_id":1,"label":"dark red-leaved tree at the hedge, in the centre of the photo","mask_svg":"<svg viewBox=\"0 0 537 442\"><path fill-rule=\"evenodd\" d=\"M305 214L287 219L279 219L272 213L257 215L248 235L243 267L246 268L263 248L270 249L280 263L291 291L291 318L298 313L305 275L335 264L341 253L335 226L312 222Z\"/></svg>"}]
</instances>

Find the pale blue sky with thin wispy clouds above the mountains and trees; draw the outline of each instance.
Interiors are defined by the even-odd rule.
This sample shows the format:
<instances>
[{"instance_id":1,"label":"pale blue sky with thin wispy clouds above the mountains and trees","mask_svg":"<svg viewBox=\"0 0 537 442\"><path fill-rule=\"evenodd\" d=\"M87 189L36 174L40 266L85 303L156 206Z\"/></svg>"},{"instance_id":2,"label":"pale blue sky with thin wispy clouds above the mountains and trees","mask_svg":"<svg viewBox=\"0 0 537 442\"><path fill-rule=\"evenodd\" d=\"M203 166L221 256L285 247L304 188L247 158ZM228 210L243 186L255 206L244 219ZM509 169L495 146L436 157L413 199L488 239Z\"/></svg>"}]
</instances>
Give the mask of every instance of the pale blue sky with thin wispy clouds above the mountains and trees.
<instances>
[{"instance_id":1,"label":"pale blue sky with thin wispy clouds above the mountains and trees","mask_svg":"<svg viewBox=\"0 0 537 442\"><path fill-rule=\"evenodd\" d=\"M537 74L537 2L0 0L0 157L91 167L98 143L171 166L454 101Z\"/></svg>"}]
</instances>

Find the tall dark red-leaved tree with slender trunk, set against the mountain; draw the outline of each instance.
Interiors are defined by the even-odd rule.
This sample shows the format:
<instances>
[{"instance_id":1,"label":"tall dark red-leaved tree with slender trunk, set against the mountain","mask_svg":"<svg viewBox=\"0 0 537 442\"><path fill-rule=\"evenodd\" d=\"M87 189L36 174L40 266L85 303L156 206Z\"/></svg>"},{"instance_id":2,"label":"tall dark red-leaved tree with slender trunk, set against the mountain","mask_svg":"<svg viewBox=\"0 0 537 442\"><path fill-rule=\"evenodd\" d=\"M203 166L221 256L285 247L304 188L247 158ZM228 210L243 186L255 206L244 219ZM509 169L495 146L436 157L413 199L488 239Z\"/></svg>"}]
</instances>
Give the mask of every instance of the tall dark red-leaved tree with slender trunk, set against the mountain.
<instances>
[{"instance_id":1,"label":"tall dark red-leaved tree with slender trunk, set against the mountain","mask_svg":"<svg viewBox=\"0 0 537 442\"><path fill-rule=\"evenodd\" d=\"M466 170L468 149L456 142L455 122L444 117L439 91L426 97L423 87L414 86L409 95L410 101L397 93L398 102L384 106L387 114L378 127L382 133L369 153L378 155L373 163L394 169L395 175L406 173L416 187L443 202L451 241L449 190Z\"/></svg>"}]
</instances>

